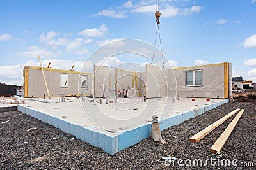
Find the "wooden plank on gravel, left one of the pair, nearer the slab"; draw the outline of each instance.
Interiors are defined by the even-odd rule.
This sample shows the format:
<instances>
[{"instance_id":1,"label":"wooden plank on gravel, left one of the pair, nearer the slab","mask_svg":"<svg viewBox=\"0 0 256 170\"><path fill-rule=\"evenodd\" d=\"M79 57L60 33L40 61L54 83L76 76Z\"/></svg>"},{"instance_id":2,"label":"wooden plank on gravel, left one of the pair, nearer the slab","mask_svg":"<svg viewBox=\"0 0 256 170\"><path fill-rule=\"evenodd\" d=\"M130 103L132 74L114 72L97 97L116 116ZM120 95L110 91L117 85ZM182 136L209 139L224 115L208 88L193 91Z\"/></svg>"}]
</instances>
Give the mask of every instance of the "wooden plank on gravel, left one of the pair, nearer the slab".
<instances>
[{"instance_id":1,"label":"wooden plank on gravel, left one of the pair, nearer the slab","mask_svg":"<svg viewBox=\"0 0 256 170\"><path fill-rule=\"evenodd\" d=\"M219 120L217 120L216 122L214 122L213 124L209 125L208 127L205 127L205 129L203 129L202 131L198 132L197 134L195 134L194 136L192 136L191 138L189 138L189 141L196 143L198 141L200 141L200 139L204 138L207 134L209 134L211 131L213 131L214 129L216 129L216 127L218 127L219 125L221 125L223 122L225 122L228 118L232 117L232 115L234 115L235 113L237 113L240 109L236 109L234 111L231 111L230 113L228 113L227 115L225 115L224 117L220 118Z\"/></svg>"}]
</instances>

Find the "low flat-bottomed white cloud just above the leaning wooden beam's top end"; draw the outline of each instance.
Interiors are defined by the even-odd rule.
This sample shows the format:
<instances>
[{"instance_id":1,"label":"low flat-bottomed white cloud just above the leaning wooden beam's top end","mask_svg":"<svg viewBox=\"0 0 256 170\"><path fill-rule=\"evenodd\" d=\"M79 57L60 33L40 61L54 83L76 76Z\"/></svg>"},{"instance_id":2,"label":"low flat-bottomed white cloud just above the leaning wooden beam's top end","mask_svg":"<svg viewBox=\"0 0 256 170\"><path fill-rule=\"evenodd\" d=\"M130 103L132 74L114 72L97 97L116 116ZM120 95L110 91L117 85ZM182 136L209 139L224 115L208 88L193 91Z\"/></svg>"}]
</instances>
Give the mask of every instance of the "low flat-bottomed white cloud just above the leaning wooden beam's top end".
<instances>
[{"instance_id":1,"label":"low flat-bottomed white cloud just above the leaning wooden beam's top end","mask_svg":"<svg viewBox=\"0 0 256 170\"><path fill-rule=\"evenodd\" d=\"M37 57L40 55L42 58L49 58L49 57L58 57L61 55L61 52L50 52L45 48L39 48L38 46L30 46L28 50L25 52L17 52L17 55L21 55L24 57Z\"/></svg>"}]
</instances>

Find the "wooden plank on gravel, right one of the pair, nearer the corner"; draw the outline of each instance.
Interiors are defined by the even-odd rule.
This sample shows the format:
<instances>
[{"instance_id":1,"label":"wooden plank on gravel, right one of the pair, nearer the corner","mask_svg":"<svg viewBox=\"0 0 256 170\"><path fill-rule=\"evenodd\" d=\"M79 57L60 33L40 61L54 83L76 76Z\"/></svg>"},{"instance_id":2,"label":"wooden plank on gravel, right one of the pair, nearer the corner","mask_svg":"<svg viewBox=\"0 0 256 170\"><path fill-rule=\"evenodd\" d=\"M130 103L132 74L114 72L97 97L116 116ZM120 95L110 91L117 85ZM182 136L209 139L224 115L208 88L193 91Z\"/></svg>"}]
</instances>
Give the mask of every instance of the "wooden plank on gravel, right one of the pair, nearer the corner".
<instances>
[{"instance_id":1,"label":"wooden plank on gravel, right one of the pair, nearer the corner","mask_svg":"<svg viewBox=\"0 0 256 170\"><path fill-rule=\"evenodd\" d=\"M225 131L222 132L220 137L215 141L215 143L212 145L212 147L210 149L210 151L212 153L217 153L217 152L221 151L221 149L223 148L223 146L225 145L228 137L230 136L230 134L232 133L232 131L236 127L236 124L239 121L239 119L241 118L241 116L243 115L243 113L244 113L244 109L239 111L239 113L236 115L236 117L232 120L232 122L225 129Z\"/></svg>"}]
</instances>

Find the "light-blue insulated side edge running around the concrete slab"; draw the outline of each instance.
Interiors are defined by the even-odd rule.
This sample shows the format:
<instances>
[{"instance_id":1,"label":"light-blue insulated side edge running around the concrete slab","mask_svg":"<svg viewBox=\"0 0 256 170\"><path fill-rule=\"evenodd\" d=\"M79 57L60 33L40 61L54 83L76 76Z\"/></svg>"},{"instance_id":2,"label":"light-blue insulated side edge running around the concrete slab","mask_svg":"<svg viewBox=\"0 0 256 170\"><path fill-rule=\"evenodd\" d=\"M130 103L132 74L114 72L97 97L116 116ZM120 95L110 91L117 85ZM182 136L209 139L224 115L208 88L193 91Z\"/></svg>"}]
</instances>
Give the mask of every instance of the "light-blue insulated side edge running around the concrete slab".
<instances>
[{"instance_id":1,"label":"light-blue insulated side edge running around the concrete slab","mask_svg":"<svg viewBox=\"0 0 256 170\"><path fill-rule=\"evenodd\" d=\"M209 104L203 108L180 113L169 117L166 120L160 121L159 125L161 131L173 125L178 125L186 120L189 120L190 118L195 118L196 116L216 108L221 104L228 103L228 101L229 99L225 99L218 103ZM53 125L54 127L61 129L61 131L70 133L76 136L77 139L90 143L90 145L102 148L102 150L109 153L109 155L114 155L120 150L124 150L125 148L129 148L130 146L139 143L143 139L148 138L151 133L150 123L137 127L136 129L132 129L131 131L109 134L108 132L99 131L99 129L95 127L82 126L77 125L74 122L67 122L65 120L61 120L60 118L47 115L46 113L33 110L32 108L28 108L20 104L17 104L17 110L22 113L26 113L31 117L35 117L49 125Z\"/></svg>"}]
</instances>

